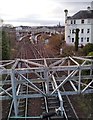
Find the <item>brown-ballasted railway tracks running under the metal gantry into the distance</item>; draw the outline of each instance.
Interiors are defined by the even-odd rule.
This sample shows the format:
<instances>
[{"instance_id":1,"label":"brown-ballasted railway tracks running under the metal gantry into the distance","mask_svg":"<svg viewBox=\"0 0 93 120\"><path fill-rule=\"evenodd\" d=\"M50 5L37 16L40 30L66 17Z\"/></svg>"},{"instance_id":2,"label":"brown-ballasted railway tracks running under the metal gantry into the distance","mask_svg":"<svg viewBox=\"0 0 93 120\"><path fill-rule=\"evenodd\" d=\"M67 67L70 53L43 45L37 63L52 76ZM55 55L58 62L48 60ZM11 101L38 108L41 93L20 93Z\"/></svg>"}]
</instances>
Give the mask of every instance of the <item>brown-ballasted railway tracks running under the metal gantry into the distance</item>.
<instances>
[{"instance_id":1,"label":"brown-ballasted railway tracks running under the metal gantry into the distance","mask_svg":"<svg viewBox=\"0 0 93 120\"><path fill-rule=\"evenodd\" d=\"M41 49L42 48L42 49ZM43 46L31 44L30 42L23 41L21 49L17 55L20 59L29 59L29 58L48 58L48 54ZM53 56L54 57L54 56ZM50 61L51 63L51 61ZM22 65L21 65L22 67ZM23 66L24 67L24 66ZM57 74L57 73L56 73ZM34 74L32 75L34 76ZM34 76L35 77L35 76ZM47 86L45 82L34 83L35 86L39 88L39 90L43 92L47 92ZM21 88L18 86L19 94L29 95L29 94L39 94L36 90L33 90L30 85L24 83ZM51 93L55 86L53 82L49 82L49 92ZM65 91L65 89L64 89ZM61 98L62 97L62 98ZM63 111L60 106L64 103ZM11 103L12 104L12 103ZM11 107L12 112L11 115L14 115L13 108ZM45 120L70 120L71 118L78 120L78 116L75 115L75 110L68 96L61 96L60 91L57 91L56 96L44 96L41 98L23 98L18 101L18 109L20 117L30 117L32 119L45 119ZM74 112L72 112L74 111ZM35 117L39 116L39 117Z\"/></svg>"}]
</instances>

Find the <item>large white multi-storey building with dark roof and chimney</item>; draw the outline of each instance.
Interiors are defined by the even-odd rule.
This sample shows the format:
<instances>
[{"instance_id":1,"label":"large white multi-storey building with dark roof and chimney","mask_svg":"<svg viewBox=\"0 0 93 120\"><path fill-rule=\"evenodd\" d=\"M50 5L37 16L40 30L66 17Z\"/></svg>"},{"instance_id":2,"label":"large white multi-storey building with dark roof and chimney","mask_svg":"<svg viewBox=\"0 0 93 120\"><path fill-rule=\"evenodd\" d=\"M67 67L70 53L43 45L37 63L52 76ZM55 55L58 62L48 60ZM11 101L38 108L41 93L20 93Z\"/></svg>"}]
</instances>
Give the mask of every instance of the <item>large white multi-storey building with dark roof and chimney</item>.
<instances>
[{"instance_id":1,"label":"large white multi-storey building with dark roof and chimney","mask_svg":"<svg viewBox=\"0 0 93 120\"><path fill-rule=\"evenodd\" d=\"M74 45L75 30L79 29L79 45L93 43L93 1L87 10L81 10L73 16L67 16L65 10L65 41L69 45Z\"/></svg>"}]
</instances>

